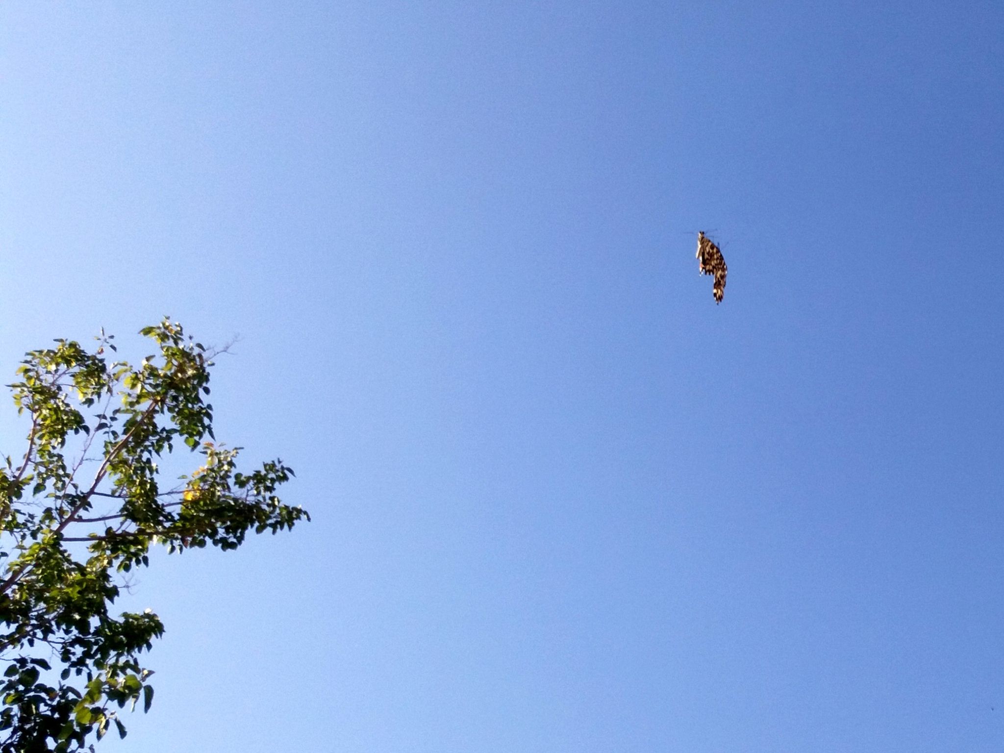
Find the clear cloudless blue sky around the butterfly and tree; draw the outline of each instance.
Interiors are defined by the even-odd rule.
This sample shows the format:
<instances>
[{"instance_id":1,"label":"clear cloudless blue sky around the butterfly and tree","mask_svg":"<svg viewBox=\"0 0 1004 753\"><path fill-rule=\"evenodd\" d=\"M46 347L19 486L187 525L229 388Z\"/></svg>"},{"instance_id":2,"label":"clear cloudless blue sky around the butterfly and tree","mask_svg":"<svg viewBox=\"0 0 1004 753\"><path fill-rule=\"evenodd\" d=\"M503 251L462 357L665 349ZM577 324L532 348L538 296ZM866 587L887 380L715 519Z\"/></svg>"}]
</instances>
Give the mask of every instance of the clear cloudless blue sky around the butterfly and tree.
<instances>
[{"instance_id":1,"label":"clear cloudless blue sky around the butterfly and tree","mask_svg":"<svg viewBox=\"0 0 1004 753\"><path fill-rule=\"evenodd\" d=\"M0 370L239 334L314 519L140 575L107 750L1004 749L999 0L11 0L0 76Z\"/></svg>"}]
</instances>

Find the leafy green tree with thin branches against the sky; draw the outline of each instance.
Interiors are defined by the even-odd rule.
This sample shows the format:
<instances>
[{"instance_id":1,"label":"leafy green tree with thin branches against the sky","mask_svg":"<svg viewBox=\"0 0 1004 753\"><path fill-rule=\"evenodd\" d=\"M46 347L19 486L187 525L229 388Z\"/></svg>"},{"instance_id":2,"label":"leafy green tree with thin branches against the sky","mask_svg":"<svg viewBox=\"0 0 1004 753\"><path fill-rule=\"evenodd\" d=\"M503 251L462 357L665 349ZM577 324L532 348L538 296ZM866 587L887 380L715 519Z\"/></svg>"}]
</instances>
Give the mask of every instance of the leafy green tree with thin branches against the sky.
<instances>
[{"instance_id":1,"label":"leafy green tree with thin branches against the sky","mask_svg":"<svg viewBox=\"0 0 1004 753\"><path fill-rule=\"evenodd\" d=\"M138 366L107 362L115 347L102 330L94 352L64 339L28 352L8 386L31 428L23 458L0 468L2 753L92 749L111 723L126 736L126 704L150 709L140 655L164 625L149 609L110 608L152 546L235 549L249 530L309 520L275 495L292 475L281 461L245 475L240 448L206 441L216 353L170 319L141 333L159 353ZM176 445L201 463L166 489L158 461Z\"/></svg>"}]
</instances>

